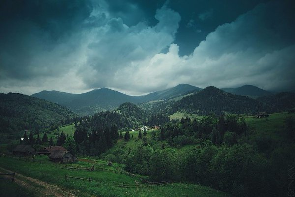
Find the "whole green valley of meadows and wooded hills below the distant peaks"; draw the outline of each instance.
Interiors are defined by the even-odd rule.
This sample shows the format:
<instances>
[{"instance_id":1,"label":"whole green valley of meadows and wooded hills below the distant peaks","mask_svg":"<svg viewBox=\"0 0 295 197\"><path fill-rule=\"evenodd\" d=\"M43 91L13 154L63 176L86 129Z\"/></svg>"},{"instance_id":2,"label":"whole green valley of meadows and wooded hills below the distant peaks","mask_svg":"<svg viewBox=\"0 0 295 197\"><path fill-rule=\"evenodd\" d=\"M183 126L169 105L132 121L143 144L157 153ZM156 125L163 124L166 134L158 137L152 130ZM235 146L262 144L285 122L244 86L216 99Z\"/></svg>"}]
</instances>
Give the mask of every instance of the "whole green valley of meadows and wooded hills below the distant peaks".
<instances>
[{"instance_id":1,"label":"whole green valley of meadows and wooded hills below the distant peaks","mask_svg":"<svg viewBox=\"0 0 295 197\"><path fill-rule=\"evenodd\" d=\"M159 100L126 102L114 105L114 110L89 116L79 116L43 99L2 94L5 99L0 107L17 103L21 107L1 113L0 167L18 173L16 177L36 181L21 178L10 186L14 190L19 184L20 189L9 194L39 196L43 186L38 186L38 180L45 181L47 188L60 187L64 191L45 196L255 196L269 191L269 187L271 193L281 194L283 190L271 180L286 184L281 172L295 158L295 94L268 94L253 99L212 86L190 91L159 91ZM270 112L269 117L255 118L261 111ZM45 116L47 124L35 114L49 114ZM3 124L11 117L16 122ZM24 120L38 121L28 124ZM78 157L78 162L57 164L39 154L13 157L11 152L18 144L32 145L36 150L63 146ZM283 165L282 161L277 163L280 157L284 158ZM94 171L81 170L91 166ZM268 169L272 173L266 173ZM255 181L248 179L249 174ZM141 184L162 181L167 183ZM28 187L30 184L32 187Z\"/></svg>"}]
</instances>

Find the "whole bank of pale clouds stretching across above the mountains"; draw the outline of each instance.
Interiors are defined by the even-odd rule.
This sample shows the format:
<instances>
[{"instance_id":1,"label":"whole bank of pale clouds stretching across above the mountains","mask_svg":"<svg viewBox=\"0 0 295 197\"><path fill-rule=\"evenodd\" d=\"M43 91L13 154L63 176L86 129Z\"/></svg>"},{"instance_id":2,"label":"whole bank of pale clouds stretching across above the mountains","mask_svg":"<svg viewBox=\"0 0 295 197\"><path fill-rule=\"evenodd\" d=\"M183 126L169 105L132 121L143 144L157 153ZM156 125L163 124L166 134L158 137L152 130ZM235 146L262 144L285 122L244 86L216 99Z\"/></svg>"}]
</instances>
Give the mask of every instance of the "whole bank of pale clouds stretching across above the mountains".
<instances>
[{"instance_id":1,"label":"whole bank of pale clouds stretching across above the mountains","mask_svg":"<svg viewBox=\"0 0 295 197\"><path fill-rule=\"evenodd\" d=\"M106 3L98 3L81 28L68 37L52 44L46 32L35 28L32 37L26 33L16 40L25 46L20 52L26 53L0 53L6 61L1 62L0 91L81 93L112 87L138 95L180 83L203 88L287 87L295 84L295 32L287 29L292 21L283 4L255 7L220 25L189 56L180 56L175 44L181 19L177 12L164 5L156 11L155 26L146 22L127 26L122 18L108 13ZM16 63L19 73L8 69Z\"/></svg>"}]
</instances>

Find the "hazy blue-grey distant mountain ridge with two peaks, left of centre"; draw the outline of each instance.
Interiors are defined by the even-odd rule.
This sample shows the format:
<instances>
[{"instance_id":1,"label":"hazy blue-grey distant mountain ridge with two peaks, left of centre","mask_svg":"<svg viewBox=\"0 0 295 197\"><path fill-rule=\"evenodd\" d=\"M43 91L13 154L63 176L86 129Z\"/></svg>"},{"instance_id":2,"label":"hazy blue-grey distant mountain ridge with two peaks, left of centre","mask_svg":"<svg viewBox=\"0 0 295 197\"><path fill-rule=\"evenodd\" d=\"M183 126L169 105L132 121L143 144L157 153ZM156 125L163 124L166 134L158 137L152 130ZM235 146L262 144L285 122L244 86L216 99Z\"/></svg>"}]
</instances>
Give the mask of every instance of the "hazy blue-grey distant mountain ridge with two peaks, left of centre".
<instances>
[{"instance_id":1,"label":"hazy blue-grey distant mountain ridge with two peaks, left of centre","mask_svg":"<svg viewBox=\"0 0 295 197\"><path fill-rule=\"evenodd\" d=\"M114 110L125 102L138 104L154 100L165 100L200 90L202 89L195 86L179 84L173 88L144 96L130 96L108 88L95 89L82 94L42 91L31 96L57 103L79 115L91 115L100 111Z\"/></svg>"}]
</instances>

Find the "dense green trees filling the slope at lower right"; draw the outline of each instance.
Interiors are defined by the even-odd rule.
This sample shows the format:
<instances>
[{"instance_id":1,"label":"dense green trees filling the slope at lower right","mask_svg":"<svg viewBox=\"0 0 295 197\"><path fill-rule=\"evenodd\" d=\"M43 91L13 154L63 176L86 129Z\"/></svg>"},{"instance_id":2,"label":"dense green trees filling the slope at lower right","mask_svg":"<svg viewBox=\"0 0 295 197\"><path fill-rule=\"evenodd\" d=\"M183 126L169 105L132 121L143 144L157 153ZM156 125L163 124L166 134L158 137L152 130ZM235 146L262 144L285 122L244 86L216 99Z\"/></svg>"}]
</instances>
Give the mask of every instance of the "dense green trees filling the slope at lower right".
<instances>
[{"instance_id":1,"label":"dense green trees filling the slope at lower right","mask_svg":"<svg viewBox=\"0 0 295 197\"><path fill-rule=\"evenodd\" d=\"M248 138L248 126L237 116L201 121L186 118L166 123L158 135L121 157L121 162L128 171L152 180L191 181L234 196L284 196L288 177L283 172L295 160L295 118L289 116L285 123L284 142L269 144L268 137L243 141ZM149 145L153 140L177 148L195 146L176 155L164 145L161 150L154 149Z\"/></svg>"}]
</instances>

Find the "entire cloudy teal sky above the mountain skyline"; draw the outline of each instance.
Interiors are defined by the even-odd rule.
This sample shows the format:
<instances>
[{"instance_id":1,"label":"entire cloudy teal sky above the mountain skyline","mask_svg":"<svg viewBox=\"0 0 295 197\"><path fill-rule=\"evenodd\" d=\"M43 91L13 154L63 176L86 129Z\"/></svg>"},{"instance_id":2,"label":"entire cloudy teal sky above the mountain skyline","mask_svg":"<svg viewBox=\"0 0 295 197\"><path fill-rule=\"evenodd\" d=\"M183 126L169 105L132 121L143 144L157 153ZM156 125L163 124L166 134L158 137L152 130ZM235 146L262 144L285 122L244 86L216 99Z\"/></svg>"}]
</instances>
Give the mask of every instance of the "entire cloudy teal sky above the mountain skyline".
<instances>
[{"instance_id":1,"label":"entire cloudy teal sky above the mountain skyline","mask_svg":"<svg viewBox=\"0 0 295 197\"><path fill-rule=\"evenodd\" d=\"M0 92L295 90L294 0L1 0Z\"/></svg>"}]
</instances>

